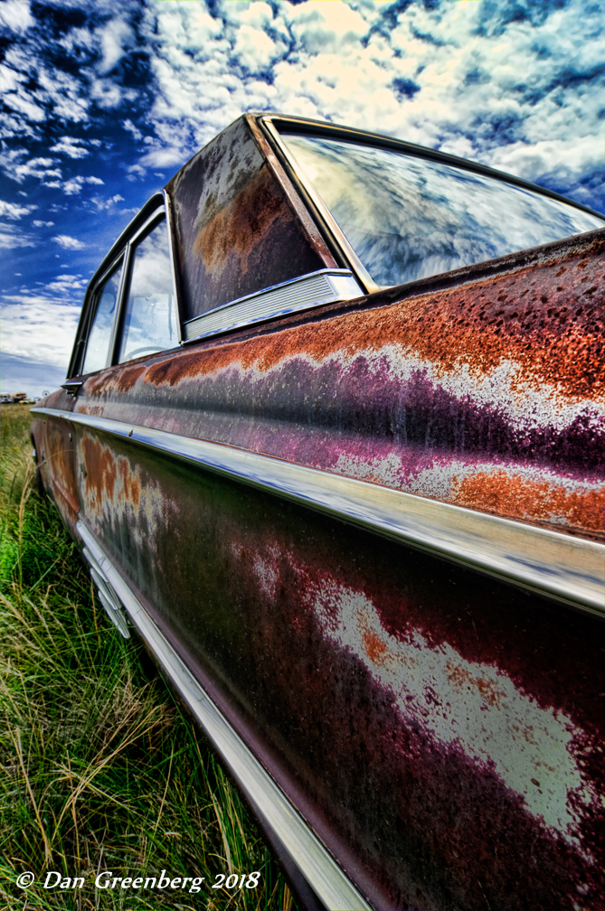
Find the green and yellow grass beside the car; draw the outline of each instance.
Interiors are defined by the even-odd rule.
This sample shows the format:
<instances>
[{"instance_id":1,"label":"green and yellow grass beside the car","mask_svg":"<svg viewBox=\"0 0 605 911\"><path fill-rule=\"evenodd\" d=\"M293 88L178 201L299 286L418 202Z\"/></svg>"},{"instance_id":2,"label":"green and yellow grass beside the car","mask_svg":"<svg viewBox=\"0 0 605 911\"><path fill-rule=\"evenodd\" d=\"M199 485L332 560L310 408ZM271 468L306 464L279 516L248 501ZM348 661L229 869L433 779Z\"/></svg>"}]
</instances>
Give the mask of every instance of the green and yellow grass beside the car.
<instances>
[{"instance_id":1,"label":"green and yellow grass beside the car","mask_svg":"<svg viewBox=\"0 0 605 911\"><path fill-rule=\"evenodd\" d=\"M0 907L292 908L237 790L138 641L110 626L37 495L27 406L1 417ZM105 870L204 879L199 892L96 889ZM256 888L211 888L254 870ZM36 876L26 890L15 884L24 871ZM47 871L49 885L70 884L45 889Z\"/></svg>"}]
</instances>

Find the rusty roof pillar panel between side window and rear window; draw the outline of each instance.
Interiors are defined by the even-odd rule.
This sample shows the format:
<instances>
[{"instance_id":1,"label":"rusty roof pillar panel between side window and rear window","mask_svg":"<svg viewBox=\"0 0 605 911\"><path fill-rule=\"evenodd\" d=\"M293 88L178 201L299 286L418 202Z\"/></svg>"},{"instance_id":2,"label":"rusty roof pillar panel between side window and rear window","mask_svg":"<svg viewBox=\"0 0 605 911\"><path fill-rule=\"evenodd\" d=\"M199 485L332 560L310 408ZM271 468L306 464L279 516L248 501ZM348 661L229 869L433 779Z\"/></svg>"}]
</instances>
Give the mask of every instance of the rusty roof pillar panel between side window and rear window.
<instances>
[{"instance_id":1,"label":"rusty roof pillar panel between side window and rear window","mask_svg":"<svg viewBox=\"0 0 605 911\"><path fill-rule=\"evenodd\" d=\"M203 148L167 190L187 319L334 264L296 217L245 120Z\"/></svg>"}]
</instances>

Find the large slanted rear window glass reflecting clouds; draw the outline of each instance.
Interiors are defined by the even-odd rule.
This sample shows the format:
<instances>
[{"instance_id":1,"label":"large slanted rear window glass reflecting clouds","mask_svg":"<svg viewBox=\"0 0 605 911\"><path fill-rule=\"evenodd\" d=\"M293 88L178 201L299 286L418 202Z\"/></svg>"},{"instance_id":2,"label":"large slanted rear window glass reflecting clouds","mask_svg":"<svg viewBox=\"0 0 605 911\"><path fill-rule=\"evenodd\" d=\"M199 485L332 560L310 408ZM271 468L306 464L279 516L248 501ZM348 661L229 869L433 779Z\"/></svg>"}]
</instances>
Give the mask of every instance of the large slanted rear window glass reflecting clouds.
<instances>
[{"instance_id":1,"label":"large slanted rear window glass reflecting clouds","mask_svg":"<svg viewBox=\"0 0 605 911\"><path fill-rule=\"evenodd\" d=\"M603 227L588 212L438 161L333 139L283 140L377 284Z\"/></svg>"}]
</instances>

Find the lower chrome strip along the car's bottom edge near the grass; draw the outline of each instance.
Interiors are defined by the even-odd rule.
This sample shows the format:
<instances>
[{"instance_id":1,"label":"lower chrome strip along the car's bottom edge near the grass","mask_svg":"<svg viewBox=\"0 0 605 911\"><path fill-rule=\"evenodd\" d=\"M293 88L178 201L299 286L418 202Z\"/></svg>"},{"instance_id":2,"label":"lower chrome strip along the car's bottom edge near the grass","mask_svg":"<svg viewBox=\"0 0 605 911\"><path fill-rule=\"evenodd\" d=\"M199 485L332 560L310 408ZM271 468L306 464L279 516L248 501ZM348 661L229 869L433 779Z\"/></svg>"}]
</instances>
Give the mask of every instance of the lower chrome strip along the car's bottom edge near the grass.
<instances>
[{"instance_id":1,"label":"lower chrome strip along the car's bottom edge near the grass","mask_svg":"<svg viewBox=\"0 0 605 911\"><path fill-rule=\"evenodd\" d=\"M264 816L282 840L292 861L316 895L328 908L372 911L371 906L359 894L317 835L304 822L282 789L241 740L178 652L172 648L169 640L149 617L128 583L100 547L97 538L82 521L77 522L76 530L88 551L89 558L94 559L97 572L100 570L108 588L118 596L131 623L159 660L161 670L179 693L180 699L219 752L252 808Z\"/></svg>"}]
</instances>

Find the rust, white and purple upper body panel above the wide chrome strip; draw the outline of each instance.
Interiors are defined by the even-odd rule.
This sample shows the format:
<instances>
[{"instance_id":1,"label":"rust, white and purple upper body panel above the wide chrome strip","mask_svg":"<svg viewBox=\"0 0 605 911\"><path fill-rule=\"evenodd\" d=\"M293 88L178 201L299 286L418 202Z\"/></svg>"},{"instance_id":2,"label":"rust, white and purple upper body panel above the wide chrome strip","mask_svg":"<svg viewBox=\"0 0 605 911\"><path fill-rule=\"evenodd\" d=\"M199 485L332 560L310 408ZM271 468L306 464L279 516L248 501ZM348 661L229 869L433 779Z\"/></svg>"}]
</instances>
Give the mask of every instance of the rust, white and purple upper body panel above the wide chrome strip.
<instances>
[{"instance_id":1,"label":"rust, white and purple upper body panel above the wide chrome strip","mask_svg":"<svg viewBox=\"0 0 605 911\"><path fill-rule=\"evenodd\" d=\"M113 368L76 409L602 539L602 252L600 231Z\"/></svg>"}]
</instances>

